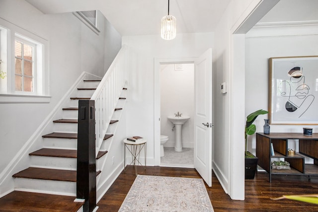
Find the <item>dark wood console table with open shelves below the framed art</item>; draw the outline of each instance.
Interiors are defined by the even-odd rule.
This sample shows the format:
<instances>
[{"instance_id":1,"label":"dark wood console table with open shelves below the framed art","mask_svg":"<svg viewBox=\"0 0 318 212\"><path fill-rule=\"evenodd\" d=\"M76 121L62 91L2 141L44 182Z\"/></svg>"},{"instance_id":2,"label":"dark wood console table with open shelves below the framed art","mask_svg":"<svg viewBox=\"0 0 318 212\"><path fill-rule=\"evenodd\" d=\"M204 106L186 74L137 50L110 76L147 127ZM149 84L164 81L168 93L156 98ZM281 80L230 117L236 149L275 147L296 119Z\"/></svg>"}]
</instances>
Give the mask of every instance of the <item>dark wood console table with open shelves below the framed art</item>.
<instances>
[{"instance_id":1,"label":"dark wood console table with open shelves below the framed art","mask_svg":"<svg viewBox=\"0 0 318 212\"><path fill-rule=\"evenodd\" d=\"M288 155L288 140L299 140L299 152ZM271 155L271 143L273 143L275 155ZM314 159L314 164L305 164L305 156ZM258 165L269 173L269 182L272 182L272 174L306 175L310 179L312 175L318 175L318 133L312 136L304 136L302 133L256 133L256 156ZM284 158L290 163L291 170L277 170L271 168L272 158Z\"/></svg>"}]
</instances>

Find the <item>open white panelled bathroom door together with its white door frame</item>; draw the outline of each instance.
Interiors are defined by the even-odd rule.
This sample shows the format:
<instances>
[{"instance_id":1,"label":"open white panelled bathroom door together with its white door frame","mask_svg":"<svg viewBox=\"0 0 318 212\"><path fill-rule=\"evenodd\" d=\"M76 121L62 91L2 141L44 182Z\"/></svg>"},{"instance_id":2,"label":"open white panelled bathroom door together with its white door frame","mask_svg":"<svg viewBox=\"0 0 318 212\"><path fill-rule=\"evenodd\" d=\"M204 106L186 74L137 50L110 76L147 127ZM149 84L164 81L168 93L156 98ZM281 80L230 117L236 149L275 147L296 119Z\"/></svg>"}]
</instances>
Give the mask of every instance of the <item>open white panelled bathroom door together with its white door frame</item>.
<instances>
[{"instance_id":1,"label":"open white panelled bathroom door together with its white door frame","mask_svg":"<svg viewBox=\"0 0 318 212\"><path fill-rule=\"evenodd\" d=\"M155 165L160 165L160 65L194 64L194 168L212 186L212 49L198 58L155 59L154 62Z\"/></svg>"}]
</instances>

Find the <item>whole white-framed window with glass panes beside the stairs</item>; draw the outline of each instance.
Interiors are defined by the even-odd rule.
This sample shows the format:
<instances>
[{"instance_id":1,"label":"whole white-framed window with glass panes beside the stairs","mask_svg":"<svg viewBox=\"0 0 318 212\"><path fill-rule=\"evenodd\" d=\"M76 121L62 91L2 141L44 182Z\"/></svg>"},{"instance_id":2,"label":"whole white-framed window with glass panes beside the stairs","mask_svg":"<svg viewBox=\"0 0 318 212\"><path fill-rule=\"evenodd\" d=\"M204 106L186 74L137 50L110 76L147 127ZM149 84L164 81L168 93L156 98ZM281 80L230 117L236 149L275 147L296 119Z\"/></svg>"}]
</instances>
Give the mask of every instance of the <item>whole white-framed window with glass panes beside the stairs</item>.
<instances>
[{"instance_id":1,"label":"whole white-framed window with glass panes beside the stairs","mask_svg":"<svg viewBox=\"0 0 318 212\"><path fill-rule=\"evenodd\" d=\"M0 103L50 102L48 41L0 18Z\"/></svg>"}]
</instances>

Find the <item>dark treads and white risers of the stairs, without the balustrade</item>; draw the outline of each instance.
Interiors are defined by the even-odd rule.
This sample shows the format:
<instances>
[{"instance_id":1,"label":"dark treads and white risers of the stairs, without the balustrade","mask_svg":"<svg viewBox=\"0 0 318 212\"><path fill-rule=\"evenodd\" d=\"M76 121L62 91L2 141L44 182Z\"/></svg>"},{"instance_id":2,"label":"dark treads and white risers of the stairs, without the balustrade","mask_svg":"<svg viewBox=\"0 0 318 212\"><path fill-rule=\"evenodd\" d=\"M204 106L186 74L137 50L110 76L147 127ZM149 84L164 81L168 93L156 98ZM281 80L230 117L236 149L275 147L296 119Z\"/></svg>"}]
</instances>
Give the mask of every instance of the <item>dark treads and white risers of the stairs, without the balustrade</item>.
<instances>
[{"instance_id":1,"label":"dark treads and white risers of the stairs, without the balustrade","mask_svg":"<svg viewBox=\"0 0 318 212\"><path fill-rule=\"evenodd\" d=\"M76 148L78 127L77 116L79 110L76 105L78 105L79 99L90 99L89 96L92 95L99 82L100 80L84 80L84 88L78 88L78 97L71 97L69 107L62 108L63 117L53 121L54 128L52 130L54 132L42 136L43 148L29 153L31 157L30 167L13 175L15 178L15 191L0 199L0 211L15 211L16 209L14 209L12 204L15 205L17 202L19 202L19 205L16 205L18 210L24 211L23 209L25 209L26 211L37 211L37 203L45 203L48 198L57 200L61 198L58 201L59 204L55 205L55 207L65 207L65 205L67 205L68 211L81 211L80 207L83 203L74 202L77 181ZM126 88L123 89L126 90ZM120 97L119 99L126 98ZM122 108L115 108L114 113L120 110L122 110ZM111 120L109 124L113 125L117 122L118 120ZM104 142L107 142L107 140L112 137L113 134L106 134L103 140ZM107 146L107 144L103 144L103 146ZM107 150L98 151L96 160L98 161L98 159L105 156L106 153ZM96 164L99 163L96 162ZM98 166L96 167L96 170L98 170L96 172L97 177L101 171ZM61 196L61 194L63 196ZM30 200L34 200L34 204L30 205L30 203L32 203ZM23 208L23 205L26 205L27 208ZM52 205L47 205L47 207L47 209L52 211L62 210L54 209ZM41 210L46 209L43 208L43 206L40 206L40 208Z\"/></svg>"}]
</instances>

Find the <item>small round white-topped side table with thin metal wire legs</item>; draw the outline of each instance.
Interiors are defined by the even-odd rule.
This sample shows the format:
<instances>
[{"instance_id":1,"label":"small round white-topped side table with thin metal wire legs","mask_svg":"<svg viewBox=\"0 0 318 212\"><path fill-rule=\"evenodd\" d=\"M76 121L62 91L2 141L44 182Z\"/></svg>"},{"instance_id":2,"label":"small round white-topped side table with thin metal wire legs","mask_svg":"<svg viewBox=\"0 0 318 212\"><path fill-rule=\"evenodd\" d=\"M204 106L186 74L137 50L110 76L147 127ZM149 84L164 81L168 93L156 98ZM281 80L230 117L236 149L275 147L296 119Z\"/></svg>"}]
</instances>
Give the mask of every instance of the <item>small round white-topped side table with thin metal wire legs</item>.
<instances>
[{"instance_id":1,"label":"small round white-topped side table with thin metal wire legs","mask_svg":"<svg viewBox=\"0 0 318 212\"><path fill-rule=\"evenodd\" d=\"M140 163L140 152L142 149L145 151L145 170L146 170L146 157L147 157L147 140L142 139L140 141L128 141L127 139L124 140L124 172L126 172L126 149L129 150L132 156L132 162L129 165L134 165L136 176L138 174L138 165L143 166Z\"/></svg>"}]
</instances>

